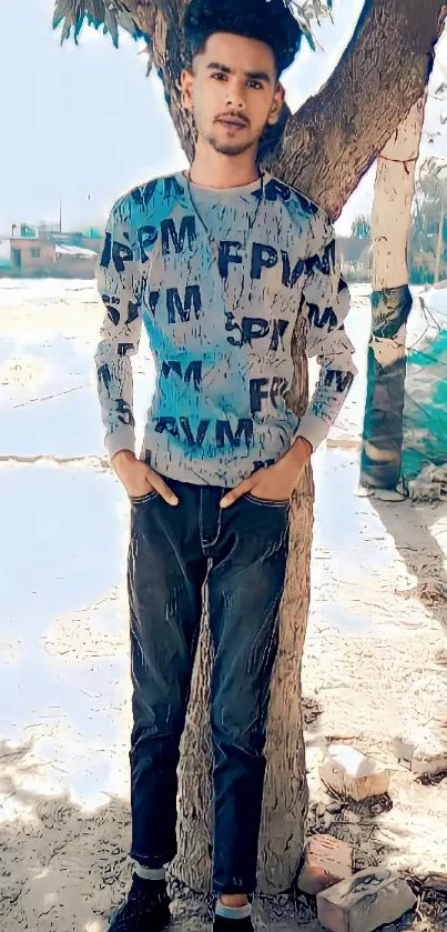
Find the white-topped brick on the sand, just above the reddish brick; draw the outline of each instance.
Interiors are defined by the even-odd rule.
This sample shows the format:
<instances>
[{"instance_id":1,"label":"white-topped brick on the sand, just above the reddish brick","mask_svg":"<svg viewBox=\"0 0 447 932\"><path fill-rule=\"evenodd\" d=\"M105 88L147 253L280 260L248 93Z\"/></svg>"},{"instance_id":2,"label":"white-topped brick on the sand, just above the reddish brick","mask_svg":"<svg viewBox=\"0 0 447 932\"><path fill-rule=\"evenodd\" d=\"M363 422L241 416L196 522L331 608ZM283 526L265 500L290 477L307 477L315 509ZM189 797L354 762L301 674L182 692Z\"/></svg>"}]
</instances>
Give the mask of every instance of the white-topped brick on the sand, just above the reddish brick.
<instances>
[{"instance_id":1,"label":"white-topped brick on the sand, just above the reddish brick","mask_svg":"<svg viewBox=\"0 0 447 932\"><path fill-rule=\"evenodd\" d=\"M319 776L338 795L356 801L380 796L389 786L389 771L348 744L329 745Z\"/></svg>"}]
</instances>

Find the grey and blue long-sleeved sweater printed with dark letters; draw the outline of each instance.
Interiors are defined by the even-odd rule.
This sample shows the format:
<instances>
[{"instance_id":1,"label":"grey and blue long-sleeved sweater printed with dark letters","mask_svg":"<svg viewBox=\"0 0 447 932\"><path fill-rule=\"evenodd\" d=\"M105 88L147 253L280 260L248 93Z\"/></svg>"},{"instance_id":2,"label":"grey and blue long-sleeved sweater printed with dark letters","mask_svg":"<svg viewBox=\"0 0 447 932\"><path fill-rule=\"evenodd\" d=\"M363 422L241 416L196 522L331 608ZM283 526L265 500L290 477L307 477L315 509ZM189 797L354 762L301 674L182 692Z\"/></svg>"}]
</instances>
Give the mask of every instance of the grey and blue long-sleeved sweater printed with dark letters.
<instances>
[{"instance_id":1,"label":"grey and blue long-sleeved sweater printed with dark letters","mask_svg":"<svg viewBox=\"0 0 447 932\"><path fill-rule=\"evenodd\" d=\"M141 327L155 367L141 459L164 477L233 485L299 434L315 449L356 372L324 210L264 172L224 190L186 172L134 188L112 209L96 268L105 317L95 354L110 458L134 450L131 355ZM295 324L319 380L291 410Z\"/></svg>"}]
</instances>

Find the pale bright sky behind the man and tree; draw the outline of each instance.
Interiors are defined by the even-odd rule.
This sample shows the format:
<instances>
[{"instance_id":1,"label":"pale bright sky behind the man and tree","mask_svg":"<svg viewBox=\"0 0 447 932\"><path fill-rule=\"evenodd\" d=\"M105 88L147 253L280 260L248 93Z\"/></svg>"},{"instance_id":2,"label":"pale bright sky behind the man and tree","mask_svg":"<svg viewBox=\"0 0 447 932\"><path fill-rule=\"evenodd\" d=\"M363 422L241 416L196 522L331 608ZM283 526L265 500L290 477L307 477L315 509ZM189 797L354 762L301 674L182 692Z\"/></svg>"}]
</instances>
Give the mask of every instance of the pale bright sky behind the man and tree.
<instances>
[{"instance_id":1,"label":"pale bright sky behind the man and tree","mask_svg":"<svg viewBox=\"0 0 447 932\"><path fill-rule=\"evenodd\" d=\"M316 29L322 50L304 43L283 76L292 110L327 80L362 7L334 0L334 23ZM52 0L14 0L1 12L0 234L12 223L57 222L60 198L63 229L101 226L133 184L186 166L161 83L145 77L142 43L122 31L116 51L109 36L84 27L78 47L61 47L52 10ZM345 207L338 233L369 212L374 172Z\"/></svg>"}]
</instances>

